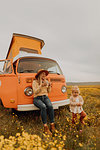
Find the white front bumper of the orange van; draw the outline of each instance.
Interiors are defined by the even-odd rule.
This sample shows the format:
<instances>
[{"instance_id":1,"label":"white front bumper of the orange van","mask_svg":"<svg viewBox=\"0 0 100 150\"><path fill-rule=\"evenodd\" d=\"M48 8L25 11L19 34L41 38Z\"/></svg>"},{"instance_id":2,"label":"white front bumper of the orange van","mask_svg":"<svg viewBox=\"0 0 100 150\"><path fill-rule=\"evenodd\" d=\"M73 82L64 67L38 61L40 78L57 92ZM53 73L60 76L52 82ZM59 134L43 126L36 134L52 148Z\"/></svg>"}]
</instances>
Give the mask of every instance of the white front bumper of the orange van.
<instances>
[{"instance_id":1,"label":"white front bumper of the orange van","mask_svg":"<svg viewBox=\"0 0 100 150\"><path fill-rule=\"evenodd\" d=\"M65 106L69 104L69 99L60 100L52 102L53 108L58 109L60 106ZM31 110L39 110L34 104L27 104L27 105L17 105L18 111L31 111Z\"/></svg>"}]
</instances>

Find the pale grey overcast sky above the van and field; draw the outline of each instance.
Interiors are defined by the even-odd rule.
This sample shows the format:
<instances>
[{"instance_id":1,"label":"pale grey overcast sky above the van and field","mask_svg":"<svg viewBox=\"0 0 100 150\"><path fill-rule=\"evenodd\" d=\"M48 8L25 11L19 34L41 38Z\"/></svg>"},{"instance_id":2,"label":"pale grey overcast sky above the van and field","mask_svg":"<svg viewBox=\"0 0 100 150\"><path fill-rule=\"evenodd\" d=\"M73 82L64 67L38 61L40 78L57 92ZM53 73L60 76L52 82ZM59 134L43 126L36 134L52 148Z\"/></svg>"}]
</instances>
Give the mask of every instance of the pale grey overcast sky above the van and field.
<instances>
[{"instance_id":1,"label":"pale grey overcast sky above the van and field","mask_svg":"<svg viewBox=\"0 0 100 150\"><path fill-rule=\"evenodd\" d=\"M43 39L66 81L100 81L100 0L0 0L0 59L13 33Z\"/></svg>"}]
</instances>

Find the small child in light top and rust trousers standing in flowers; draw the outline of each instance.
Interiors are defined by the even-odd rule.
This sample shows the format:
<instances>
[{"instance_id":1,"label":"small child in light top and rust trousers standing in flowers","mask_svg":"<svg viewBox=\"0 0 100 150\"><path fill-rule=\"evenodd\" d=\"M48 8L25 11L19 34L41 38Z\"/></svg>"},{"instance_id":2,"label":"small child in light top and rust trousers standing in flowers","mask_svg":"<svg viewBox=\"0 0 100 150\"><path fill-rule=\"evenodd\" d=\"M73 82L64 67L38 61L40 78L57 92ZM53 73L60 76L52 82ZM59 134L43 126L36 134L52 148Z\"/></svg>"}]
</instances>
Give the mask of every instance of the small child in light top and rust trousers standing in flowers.
<instances>
[{"instance_id":1,"label":"small child in light top and rust trousers standing in flowers","mask_svg":"<svg viewBox=\"0 0 100 150\"><path fill-rule=\"evenodd\" d=\"M75 123L77 114L80 114L80 121L84 124L84 117L86 113L83 111L82 105L84 103L82 96L79 95L80 91L78 86L72 87L72 96L70 97L70 111L72 112L72 123Z\"/></svg>"}]
</instances>

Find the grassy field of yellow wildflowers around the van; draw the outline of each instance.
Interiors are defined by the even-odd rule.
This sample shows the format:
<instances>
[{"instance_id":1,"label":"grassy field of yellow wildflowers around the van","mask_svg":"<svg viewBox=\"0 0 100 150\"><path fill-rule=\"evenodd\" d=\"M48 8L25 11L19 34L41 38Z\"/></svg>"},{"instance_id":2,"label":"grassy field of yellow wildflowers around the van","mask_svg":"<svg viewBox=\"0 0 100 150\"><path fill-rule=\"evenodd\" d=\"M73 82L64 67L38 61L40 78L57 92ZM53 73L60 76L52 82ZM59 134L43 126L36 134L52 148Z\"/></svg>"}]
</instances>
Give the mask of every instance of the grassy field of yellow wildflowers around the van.
<instances>
[{"instance_id":1,"label":"grassy field of yellow wildflowers around the van","mask_svg":"<svg viewBox=\"0 0 100 150\"><path fill-rule=\"evenodd\" d=\"M39 111L9 112L0 108L0 150L99 150L100 86L79 88L87 113L85 125L78 119L72 125L69 106L64 106L55 110L56 131L52 136L43 133ZM71 86L67 91L69 98Z\"/></svg>"}]
</instances>

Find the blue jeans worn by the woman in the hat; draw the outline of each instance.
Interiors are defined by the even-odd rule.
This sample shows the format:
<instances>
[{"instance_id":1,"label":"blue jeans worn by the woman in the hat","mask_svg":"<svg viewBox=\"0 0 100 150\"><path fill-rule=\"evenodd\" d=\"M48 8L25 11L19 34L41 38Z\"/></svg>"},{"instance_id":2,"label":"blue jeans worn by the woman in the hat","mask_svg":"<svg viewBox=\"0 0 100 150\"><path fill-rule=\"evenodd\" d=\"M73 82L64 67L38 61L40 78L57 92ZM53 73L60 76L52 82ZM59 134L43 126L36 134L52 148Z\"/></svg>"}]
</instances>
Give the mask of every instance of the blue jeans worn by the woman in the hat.
<instances>
[{"instance_id":1,"label":"blue jeans worn by the woman in the hat","mask_svg":"<svg viewBox=\"0 0 100 150\"><path fill-rule=\"evenodd\" d=\"M50 123L54 122L54 109L48 96L42 95L42 96L35 97L33 100L33 104L36 107L40 108L43 124L47 123L47 109L48 109Z\"/></svg>"}]
</instances>

